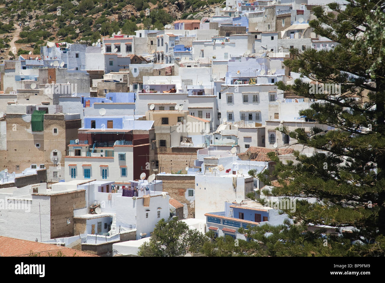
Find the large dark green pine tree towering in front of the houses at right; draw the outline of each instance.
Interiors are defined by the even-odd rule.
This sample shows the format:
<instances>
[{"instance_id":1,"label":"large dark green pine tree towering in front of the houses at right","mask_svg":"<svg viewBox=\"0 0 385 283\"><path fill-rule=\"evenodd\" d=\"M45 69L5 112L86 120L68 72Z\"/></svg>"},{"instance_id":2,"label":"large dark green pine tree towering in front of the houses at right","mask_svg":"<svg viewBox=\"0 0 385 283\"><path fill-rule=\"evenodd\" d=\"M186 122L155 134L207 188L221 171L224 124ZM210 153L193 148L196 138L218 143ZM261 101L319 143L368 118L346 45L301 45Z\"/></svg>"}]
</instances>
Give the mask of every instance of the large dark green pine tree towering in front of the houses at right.
<instances>
[{"instance_id":1,"label":"large dark green pine tree towering in front of the houses at right","mask_svg":"<svg viewBox=\"0 0 385 283\"><path fill-rule=\"evenodd\" d=\"M295 151L294 162L270 152L275 168L258 178L273 188L263 193L305 199L296 201L295 212L283 210L291 219L283 225L239 229L255 241L239 241L238 247L231 249L232 255L385 255L384 10L380 2L369 0L352 0L345 10L336 3L328 4L330 12L321 6L313 8L317 18L310 21L310 27L338 44L330 50L291 49L293 58L284 64L301 77L293 85L277 85L287 92L325 101L313 103L299 114L330 126L330 130L313 127L309 137L303 128L277 128L316 151L311 155ZM314 83L341 87L334 93L314 93ZM271 179L277 181L272 183ZM307 198L318 201L311 203ZM309 227L315 225L336 227L338 233L311 231ZM341 233L349 226L355 229ZM219 237L205 244L206 254L223 255L221 241Z\"/></svg>"}]
</instances>

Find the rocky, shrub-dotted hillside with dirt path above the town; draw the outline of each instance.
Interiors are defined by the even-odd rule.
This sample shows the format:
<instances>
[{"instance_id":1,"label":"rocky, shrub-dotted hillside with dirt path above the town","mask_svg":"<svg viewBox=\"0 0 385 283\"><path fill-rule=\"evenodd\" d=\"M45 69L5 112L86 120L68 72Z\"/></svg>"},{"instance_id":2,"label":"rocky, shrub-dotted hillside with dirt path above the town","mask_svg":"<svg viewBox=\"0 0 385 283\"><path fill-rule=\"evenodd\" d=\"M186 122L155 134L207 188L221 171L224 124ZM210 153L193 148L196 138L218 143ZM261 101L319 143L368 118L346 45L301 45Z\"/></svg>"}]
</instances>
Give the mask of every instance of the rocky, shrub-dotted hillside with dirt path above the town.
<instances>
[{"instance_id":1,"label":"rocky, shrub-dotted hillside with dirt path above the town","mask_svg":"<svg viewBox=\"0 0 385 283\"><path fill-rule=\"evenodd\" d=\"M162 30L175 20L213 15L221 5L223 0L1 0L0 62L39 54L47 40L91 44L118 31Z\"/></svg>"}]
</instances>

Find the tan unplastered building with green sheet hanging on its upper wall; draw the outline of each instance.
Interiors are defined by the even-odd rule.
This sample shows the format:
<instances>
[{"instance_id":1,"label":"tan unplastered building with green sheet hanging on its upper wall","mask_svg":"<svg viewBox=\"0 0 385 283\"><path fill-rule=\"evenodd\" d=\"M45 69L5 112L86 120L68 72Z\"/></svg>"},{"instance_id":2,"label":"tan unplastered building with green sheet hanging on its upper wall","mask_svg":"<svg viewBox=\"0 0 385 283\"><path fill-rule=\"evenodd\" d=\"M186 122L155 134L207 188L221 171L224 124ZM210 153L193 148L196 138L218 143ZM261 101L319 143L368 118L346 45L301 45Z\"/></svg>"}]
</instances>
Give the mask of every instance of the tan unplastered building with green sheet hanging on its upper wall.
<instances>
[{"instance_id":1,"label":"tan unplastered building with green sheet hanging on its upper wall","mask_svg":"<svg viewBox=\"0 0 385 283\"><path fill-rule=\"evenodd\" d=\"M46 168L47 180L64 179L64 156L71 139L77 138L80 114L56 113L57 105L8 105L7 153L4 167L21 172L27 167ZM32 131L35 110L45 111L42 130Z\"/></svg>"}]
</instances>

